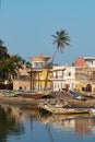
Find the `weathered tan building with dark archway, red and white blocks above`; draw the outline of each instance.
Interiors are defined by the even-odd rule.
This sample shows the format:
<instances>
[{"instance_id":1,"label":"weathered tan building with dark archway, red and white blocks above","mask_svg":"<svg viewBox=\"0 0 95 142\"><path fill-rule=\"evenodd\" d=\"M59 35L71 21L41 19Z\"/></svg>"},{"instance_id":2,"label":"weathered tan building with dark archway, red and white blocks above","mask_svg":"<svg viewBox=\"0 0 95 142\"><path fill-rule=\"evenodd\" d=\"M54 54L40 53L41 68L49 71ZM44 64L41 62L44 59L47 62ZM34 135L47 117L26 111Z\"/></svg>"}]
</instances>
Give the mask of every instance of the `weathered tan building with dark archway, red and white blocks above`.
<instances>
[{"instance_id":1,"label":"weathered tan building with dark archway, red and white blocks above","mask_svg":"<svg viewBox=\"0 0 95 142\"><path fill-rule=\"evenodd\" d=\"M75 90L95 92L95 57L80 57L74 61Z\"/></svg>"}]
</instances>

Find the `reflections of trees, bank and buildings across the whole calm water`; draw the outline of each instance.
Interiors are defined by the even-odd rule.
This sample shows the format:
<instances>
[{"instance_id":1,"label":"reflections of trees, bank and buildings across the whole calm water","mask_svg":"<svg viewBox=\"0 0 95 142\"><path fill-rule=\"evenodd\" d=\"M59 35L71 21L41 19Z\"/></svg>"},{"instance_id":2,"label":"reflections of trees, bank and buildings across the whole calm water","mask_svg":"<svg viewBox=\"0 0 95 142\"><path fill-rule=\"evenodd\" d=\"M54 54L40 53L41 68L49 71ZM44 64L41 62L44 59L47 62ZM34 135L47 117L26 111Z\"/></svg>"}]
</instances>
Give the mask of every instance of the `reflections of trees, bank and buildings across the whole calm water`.
<instances>
[{"instance_id":1,"label":"reflections of trees, bank and buildings across the whole calm water","mask_svg":"<svg viewBox=\"0 0 95 142\"><path fill-rule=\"evenodd\" d=\"M95 132L95 117L88 115L45 115L41 116L37 107L0 105L0 142L7 142L9 135L25 134L25 120L29 120L29 129L33 131L34 121L46 126L46 132L50 142L54 142L52 131L74 131L79 135Z\"/></svg>"}]
</instances>

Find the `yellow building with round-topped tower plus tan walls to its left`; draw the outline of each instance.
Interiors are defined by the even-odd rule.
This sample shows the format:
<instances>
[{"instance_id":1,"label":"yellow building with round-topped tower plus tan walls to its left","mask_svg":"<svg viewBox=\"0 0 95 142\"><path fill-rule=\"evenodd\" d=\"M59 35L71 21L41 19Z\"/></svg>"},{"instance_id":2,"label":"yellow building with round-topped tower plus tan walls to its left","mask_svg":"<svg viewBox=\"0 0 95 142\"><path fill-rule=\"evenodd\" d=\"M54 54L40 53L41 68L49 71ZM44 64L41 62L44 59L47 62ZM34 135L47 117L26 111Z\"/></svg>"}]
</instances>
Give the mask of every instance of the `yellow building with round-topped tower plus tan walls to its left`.
<instances>
[{"instance_id":1,"label":"yellow building with round-topped tower plus tan walls to its left","mask_svg":"<svg viewBox=\"0 0 95 142\"><path fill-rule=\"evenodd\" d=\"M41 91L51 88L52 70L46 68L49 58L49 56L43 55L31 57L32 67L29 69L26 67L20 69L16 79L13 80L13 90Z\"/></svg>"}]
</instances>

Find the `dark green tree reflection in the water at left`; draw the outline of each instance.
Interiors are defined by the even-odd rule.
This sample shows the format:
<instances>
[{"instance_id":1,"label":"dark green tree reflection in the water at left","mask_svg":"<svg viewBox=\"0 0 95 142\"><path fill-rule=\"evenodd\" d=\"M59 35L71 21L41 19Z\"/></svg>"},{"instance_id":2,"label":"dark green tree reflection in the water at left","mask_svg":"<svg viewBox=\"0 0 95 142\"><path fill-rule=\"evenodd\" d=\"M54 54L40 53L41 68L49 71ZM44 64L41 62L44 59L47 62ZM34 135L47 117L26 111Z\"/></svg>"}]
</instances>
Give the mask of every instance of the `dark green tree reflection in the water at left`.
<instances>
[{"instance_id":1,"label":"dark green tree reflection in the water at left","mask_svg":"<svg viewBox=\"0 0 95 142\"><path fill-rule=\"evenodd\" d=\"M0 105L0 142L5 142L8 135L24 133L23 123L16 119L15 113L10 106Z\"/></svg>"}]
</instances>

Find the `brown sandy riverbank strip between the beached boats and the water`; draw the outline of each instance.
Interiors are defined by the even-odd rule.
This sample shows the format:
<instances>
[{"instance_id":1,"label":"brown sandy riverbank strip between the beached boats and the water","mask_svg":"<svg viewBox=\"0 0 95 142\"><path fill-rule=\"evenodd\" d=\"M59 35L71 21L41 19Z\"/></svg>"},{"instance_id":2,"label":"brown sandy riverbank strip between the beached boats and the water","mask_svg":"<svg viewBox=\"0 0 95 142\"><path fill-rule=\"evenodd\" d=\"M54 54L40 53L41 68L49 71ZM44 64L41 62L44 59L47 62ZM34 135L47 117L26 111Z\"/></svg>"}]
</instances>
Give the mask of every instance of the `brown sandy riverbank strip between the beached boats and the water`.
<instances>
[{"instance_id":1,"label":"brown sandy riverbank strip between the beached boats and the water","mask_svg":"<svg viewBox=\"0 0 95 142\"><path fill-rule=\"evenodd\" d=\"M79 100L72 98L68 93L52 93L55 95L55 98L40 98L40 99L35 99L35 98L23 98L22 96L13 97L13 96L3 96L0 95L0 103L3 104L10 104L10 105L31 105L31 106L38 106L39 103L44 103L47 99L48 100L54 100L54 99L63 99L67 102L71 107L82 107L82 108L95 108L95 98L93 97L86 97L85 100Z\"/></svg>"}]
</instances>

